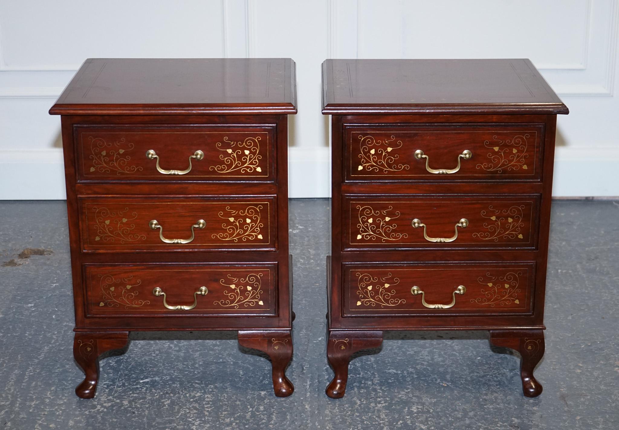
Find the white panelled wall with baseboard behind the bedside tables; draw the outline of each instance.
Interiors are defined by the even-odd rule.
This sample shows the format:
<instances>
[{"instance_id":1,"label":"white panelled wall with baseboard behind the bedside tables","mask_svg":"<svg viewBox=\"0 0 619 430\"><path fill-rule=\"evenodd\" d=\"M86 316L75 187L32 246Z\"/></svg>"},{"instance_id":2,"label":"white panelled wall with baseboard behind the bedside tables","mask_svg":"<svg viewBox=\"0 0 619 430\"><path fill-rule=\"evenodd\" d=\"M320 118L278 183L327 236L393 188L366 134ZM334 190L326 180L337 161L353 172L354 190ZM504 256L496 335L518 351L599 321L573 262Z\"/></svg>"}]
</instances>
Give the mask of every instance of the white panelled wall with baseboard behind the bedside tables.
<instances>
[{"instance_id":1,"label":"white panelled wall with baseboard behind the bedside tables","mask_svg":"<svg viewBox=\"0 0 619 430\"><path fill-rule=\"evenodd\" d=\"M0 0L0 199L63 199L59 117L87 57L292 57L290 196L329 196L328 58L530 58L568 105L555 196L619 196L619 0Z\"/></svg>"}]
</instances>

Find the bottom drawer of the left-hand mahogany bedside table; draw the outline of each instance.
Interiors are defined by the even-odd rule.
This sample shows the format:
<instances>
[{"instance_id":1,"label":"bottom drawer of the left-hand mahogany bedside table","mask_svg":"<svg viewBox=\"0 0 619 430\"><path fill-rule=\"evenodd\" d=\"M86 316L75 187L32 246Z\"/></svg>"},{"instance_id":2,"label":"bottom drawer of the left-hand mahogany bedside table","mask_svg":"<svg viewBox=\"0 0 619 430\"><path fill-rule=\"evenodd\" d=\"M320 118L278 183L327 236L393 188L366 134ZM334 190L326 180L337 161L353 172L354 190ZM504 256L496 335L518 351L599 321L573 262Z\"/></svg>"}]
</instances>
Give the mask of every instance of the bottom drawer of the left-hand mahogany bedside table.
<instances>
[{"instance_id":1,"label":"bottom drawer of the left-hand mahogany bedside table","mask_svg":"<svg viewBox=\"0 0 619 430\"><path fill-rule=\"evenodd\" d=\"M89 264L84 284L87 316L275 315L277 264Z\"/></svg>"}]
</instances>

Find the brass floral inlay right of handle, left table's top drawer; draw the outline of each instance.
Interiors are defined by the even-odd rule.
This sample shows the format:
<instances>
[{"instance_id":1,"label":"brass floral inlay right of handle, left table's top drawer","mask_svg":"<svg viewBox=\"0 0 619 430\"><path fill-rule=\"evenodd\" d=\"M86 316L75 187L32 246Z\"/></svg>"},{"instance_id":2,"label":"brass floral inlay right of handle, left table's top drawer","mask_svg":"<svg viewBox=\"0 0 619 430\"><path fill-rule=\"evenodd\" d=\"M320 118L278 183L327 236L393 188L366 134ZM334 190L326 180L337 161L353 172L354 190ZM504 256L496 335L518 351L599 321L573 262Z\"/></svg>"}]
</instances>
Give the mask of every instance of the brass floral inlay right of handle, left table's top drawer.
<instances>
[{"instance_id":1,"label":"brass floral inlay right of handle, left table's top drawer","mask_svg":"<svg viewBox=\"0 0 619 430\"><path fill-rule=\"evenodd\" d=\"M224 151L219 159L223 164L210 166L209 169L218 173L230 173L240 171L241 173L262 172L258 166L262 156L259 155L261 137L248 137L243 141L230 141L228 137L223 138L222 142L217 142L217 149ZM230 146L226 148L225 146Z\"/></svg>"}]
</instances>

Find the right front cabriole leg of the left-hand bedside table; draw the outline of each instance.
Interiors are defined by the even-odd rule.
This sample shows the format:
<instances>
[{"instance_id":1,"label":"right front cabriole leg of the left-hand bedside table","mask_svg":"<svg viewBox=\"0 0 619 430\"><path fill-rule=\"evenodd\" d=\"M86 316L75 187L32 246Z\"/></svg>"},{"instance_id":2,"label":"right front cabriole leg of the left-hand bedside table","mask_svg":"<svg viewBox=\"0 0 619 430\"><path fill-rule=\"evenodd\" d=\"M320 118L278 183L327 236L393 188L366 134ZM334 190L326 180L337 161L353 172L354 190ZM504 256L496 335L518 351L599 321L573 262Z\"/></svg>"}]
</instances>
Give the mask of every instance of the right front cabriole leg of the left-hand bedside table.
<instances>
[{"instance_id":1,"label":"right front cabriole leg of the left-hand bedside table","mask_svg":"<svg viewBox=\"0 0 619 430\"><path fill-rule=\"evenodd\" d=\"M271 358L273 390L277 397L288 397L295 390L285 371L292 360L290 331L240 331L238 343L246 348L262 351Z\"/></svg>"}]
</instances>

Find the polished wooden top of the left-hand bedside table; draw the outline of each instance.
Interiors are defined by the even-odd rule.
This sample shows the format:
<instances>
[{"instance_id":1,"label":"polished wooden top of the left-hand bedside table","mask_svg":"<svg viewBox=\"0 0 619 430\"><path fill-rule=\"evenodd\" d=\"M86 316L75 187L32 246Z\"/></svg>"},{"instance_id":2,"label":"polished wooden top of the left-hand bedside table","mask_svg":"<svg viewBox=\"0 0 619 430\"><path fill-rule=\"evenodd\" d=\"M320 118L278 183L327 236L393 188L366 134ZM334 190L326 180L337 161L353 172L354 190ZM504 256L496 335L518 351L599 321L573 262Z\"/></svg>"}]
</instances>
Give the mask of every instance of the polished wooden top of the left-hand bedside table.
<instances>
[{"instance_id":1,"label":"polished wooden top of the left-hand bedside table","mask_svg":"<svg viewBox=\"0 0 619 430\"><path fill-rule=\"evenodd\" d=\"M295 114L289 58L90 58L51 114Z\"/></svg>"}]
</instances>

